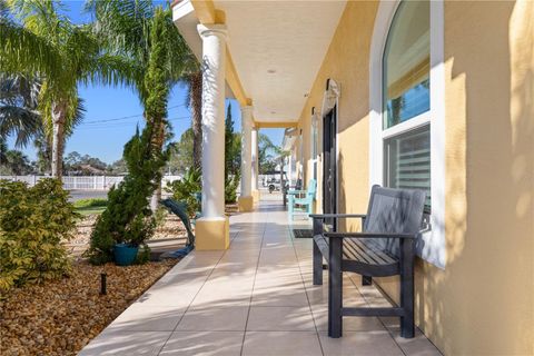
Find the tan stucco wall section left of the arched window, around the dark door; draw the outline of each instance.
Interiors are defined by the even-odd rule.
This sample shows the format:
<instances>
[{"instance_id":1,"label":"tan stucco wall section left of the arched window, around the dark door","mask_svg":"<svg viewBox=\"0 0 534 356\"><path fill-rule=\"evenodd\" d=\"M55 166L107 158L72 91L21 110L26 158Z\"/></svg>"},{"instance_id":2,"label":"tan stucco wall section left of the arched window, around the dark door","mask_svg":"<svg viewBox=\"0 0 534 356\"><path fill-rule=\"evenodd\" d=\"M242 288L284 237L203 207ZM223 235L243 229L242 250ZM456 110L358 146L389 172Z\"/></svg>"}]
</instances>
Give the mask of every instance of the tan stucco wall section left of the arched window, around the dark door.
<instances>
[{"instance_id":1,"label":"tan stucco wall section left of the arched window, around the dark door","mask_svg":"<svg viewBox=\"0 0 534 356\"><path fill-rule=\"evenodd\" d=\"M375 12L376 3L373 2L349 2L347 4L335 39L328 49L328 55L309 92L299 122L304 134L304 160L308 162L310 159L312 108L315 107L320 112L327 79L339 80L342 85L338 107L340 212L365 211L367 208L367 189L362 189L362 187L368 187L369 176L367 165L369 146L368 51ZM322 142L319 142L320 150ZM307 167L312 168L309 164ZM348 169L344 170L344 167L348 167ZM354 169L354 167L358 168ZM310 175L306 174L306 177L310 177ZM318 182L320 187L320 174ZM320 195L317 202L320 208Z\"/></svg>"}]
</instances>

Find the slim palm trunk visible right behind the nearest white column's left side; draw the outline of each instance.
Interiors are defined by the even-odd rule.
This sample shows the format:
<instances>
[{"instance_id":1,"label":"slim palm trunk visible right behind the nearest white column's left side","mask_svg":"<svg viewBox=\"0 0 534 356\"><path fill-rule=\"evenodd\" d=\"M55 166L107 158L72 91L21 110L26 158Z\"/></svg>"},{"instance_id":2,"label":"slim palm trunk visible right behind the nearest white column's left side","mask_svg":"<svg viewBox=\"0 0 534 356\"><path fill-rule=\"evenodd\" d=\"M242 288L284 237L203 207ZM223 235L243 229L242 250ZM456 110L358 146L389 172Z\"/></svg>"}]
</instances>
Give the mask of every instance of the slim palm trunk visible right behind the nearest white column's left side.
<instances>
[{"instance_id":1,"label":"slim palm trunk visible right behind the nearest white column's left side","mask_svg":"<svg viewBox=\"0 0 534 356\"><path fill-rule=\"evenodd\" d=\"M202 72L189 76L189 107L192 117L192 165L202 166Z\"/></svg>"}]
</instances>

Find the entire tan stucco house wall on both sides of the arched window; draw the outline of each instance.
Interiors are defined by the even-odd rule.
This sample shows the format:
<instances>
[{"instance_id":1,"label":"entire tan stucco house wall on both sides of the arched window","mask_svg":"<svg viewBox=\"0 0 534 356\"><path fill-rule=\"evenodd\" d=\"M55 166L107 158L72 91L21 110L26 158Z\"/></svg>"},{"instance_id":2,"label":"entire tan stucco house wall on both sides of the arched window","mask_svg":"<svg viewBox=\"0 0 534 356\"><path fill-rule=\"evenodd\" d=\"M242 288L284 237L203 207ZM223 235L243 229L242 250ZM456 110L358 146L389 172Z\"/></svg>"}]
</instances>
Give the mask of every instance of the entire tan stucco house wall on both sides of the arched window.
<instances>
[{"instance_id":1,"label":"entire tan stucco house wall on both sides of the arched window","mask_svg":"<svg viewBox=\"0 0 534 356\"><path fill-rule=\"evenodd\" d=\"M338 81L342 212L367 202L376 10L347 3L299 122L306 161L312 107ZM446 355L532 355L534 2L447 1L445 59L447 265L417 261L416 318ZM394 278L380 285L397 298Z\"/></svg>"}]
</instances>

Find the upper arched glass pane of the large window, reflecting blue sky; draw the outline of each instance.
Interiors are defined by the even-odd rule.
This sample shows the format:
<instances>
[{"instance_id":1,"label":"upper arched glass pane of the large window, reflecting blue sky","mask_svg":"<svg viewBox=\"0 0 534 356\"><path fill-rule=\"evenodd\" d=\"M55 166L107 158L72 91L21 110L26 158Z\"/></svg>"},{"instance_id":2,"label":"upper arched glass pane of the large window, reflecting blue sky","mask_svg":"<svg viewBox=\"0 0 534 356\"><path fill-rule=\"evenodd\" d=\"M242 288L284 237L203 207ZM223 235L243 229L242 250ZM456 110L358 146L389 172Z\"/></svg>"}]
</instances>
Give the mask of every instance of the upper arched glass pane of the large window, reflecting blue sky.
<instances>
[{"instance_id":1,"label":"upper arched glass pane of the large window, reflecting blue sky","mask_svg":"<svg viewBox=\"0 0 534 356\"><path fill-rule=\"evenodd\" d=\"M384 51L384 129L429 110L429 1L403 1Z\"/></svg>"}]
</instances>

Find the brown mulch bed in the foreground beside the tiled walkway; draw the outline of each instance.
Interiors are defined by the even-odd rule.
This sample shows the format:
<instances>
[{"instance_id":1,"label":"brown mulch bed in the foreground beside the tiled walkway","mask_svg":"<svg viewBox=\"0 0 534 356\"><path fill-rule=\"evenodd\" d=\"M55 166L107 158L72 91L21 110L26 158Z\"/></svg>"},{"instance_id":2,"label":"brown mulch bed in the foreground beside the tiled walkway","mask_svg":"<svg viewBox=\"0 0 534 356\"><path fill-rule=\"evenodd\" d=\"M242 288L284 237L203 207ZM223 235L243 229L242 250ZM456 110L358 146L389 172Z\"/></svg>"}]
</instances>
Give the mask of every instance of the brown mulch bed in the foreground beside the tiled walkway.
<instances>
[{"instance_id":1,"label":"brown mulch bed in the foreground beside the tiled walkway","mask_svg":"<svg viewBox=\"0 0 534 356\"><path fill-rule=\"evenodd\" d=\"M176 263L80 261L68 278L10 290L0 299L0 355L76 355ZM100 295L102 271L107 295Z\"/></svg>"}]
</instances>

